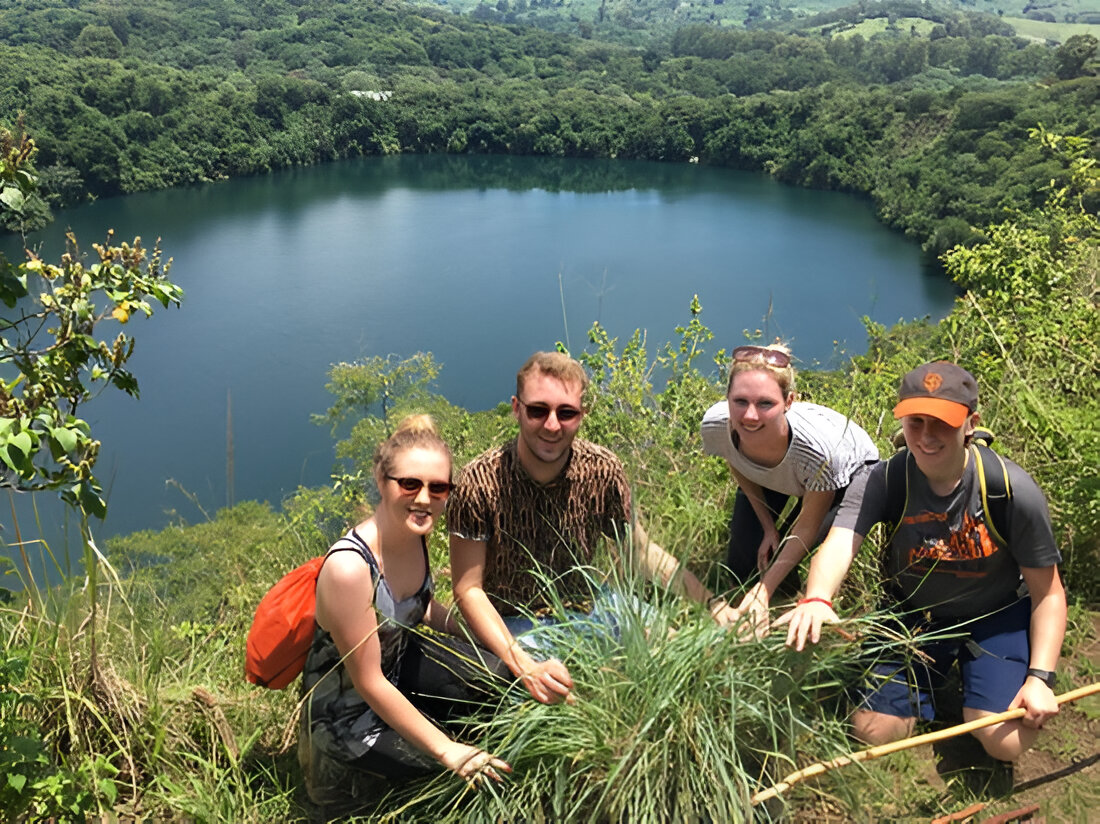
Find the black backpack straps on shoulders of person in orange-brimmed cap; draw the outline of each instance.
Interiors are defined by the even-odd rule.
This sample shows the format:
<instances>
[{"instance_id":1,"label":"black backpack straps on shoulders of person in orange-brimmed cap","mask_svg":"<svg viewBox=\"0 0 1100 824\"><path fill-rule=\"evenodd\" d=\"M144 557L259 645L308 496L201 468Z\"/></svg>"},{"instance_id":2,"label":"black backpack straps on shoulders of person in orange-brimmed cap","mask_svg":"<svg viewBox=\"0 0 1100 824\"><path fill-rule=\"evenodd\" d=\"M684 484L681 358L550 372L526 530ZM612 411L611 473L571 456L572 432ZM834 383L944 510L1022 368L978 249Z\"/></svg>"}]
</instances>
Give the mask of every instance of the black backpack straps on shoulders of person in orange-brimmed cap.
<instances>
[{"instance_id":1,"label":"black backpack straps on shoulders of person in orange-brimmed cap","mask_svg":"<svg viewBox=\"0 0 1100 824\"><path fill-rule=\"evenodd\" d=\"M1009 468L1004 459L990 449L993 433L988 429L975 429L970 438L970 458L978 472L981 487L981 509L986 514L986 526L990 537L1004 548L1008 547L1009 527L1012 523L1012 485ZM905 505L909 503L909 473L913 466L913 455L905 447L901 432L893 437L898 451L887 460L887 502L889 504L891 535L901 526Z\"/></svg>"}]
</instances>

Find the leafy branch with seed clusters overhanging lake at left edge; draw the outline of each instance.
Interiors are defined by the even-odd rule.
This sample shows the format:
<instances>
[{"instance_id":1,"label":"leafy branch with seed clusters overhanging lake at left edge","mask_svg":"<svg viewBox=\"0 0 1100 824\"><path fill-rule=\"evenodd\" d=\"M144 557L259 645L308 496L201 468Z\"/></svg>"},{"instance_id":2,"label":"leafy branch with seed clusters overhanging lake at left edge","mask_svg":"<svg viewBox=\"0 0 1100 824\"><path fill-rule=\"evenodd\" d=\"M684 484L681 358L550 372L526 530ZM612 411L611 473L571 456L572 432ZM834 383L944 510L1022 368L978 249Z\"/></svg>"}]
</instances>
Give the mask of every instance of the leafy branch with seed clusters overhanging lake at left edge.
<instances>
[{"instance_id":1,"label":"leafy branch with seed clusters overhanging lake at left edge","mask_svg":"<svg viewBox=\"0 0 1100 824\"><path fill-rule=\"evenodd\" d=\"M20 216L37 179L34 141L0 129L0 216ZM79 407L107 386L138 395L127 369L134 340L123 331L98 337L103 322L151 316L152 301L178 306L183 289L167 279L170 261L140 238L116 245L113 232L87 262L67 235L57 264L26 250L13 264L0 256L0 487L56 490L84 513L102 518L107 504L92 469L100 442ZM99 389L96 385L100 384Z\"/></svg>"}]
</instances>

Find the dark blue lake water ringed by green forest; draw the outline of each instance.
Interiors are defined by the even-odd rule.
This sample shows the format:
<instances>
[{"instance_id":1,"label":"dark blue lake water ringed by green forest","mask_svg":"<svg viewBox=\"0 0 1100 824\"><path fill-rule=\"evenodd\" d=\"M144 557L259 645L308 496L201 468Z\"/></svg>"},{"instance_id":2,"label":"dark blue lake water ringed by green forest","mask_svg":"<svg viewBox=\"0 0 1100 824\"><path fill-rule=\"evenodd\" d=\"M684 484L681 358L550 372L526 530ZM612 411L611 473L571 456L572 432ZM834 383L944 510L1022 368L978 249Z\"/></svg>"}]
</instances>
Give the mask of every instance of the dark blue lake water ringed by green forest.
<instances>
[{"instance_id":1,"label":"dark blue lake water ringed by green forest","mask_svg":"<svg viewBox=\"0 0 1100 824\"><path fill-rule=\"evenodd\" d=\"M56 218L32 239L47 259L69 227L89 250L109 228L160 237L186 290L182 309L127 327L141 399L107 394L84 410L103 442L101 536L224 504L230 392L235 499L277 504L326 483L331 438L309 416L329 406L333 362L431 351L439 391L481 409L509 397L531 351L579 350L595 320L624 340L645 330L656 351L694 294L716 348L763 329L804 365L861 351L865 315L939 318L953 299L865 200L686 164L364 158ZM59 507L38 503L53 529Z\"/></svg>"}]
</instances>

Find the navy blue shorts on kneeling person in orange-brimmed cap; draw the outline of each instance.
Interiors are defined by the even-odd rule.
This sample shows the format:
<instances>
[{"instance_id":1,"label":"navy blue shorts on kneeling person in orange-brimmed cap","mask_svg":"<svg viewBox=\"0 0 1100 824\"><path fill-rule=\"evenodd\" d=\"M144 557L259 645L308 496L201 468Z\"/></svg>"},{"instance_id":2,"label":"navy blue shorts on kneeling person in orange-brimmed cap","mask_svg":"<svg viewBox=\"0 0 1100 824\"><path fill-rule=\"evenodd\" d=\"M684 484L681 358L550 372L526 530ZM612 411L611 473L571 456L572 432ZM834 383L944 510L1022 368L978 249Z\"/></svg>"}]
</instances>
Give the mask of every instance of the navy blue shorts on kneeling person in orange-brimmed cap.
<instances>
[{"instance_id":1,"label":"navy blue shorts on kneeling person in orange-brimmed cap","mask_svg":"<svg viewBox=\"0 0 1100 824\"><path fill-rule=\"evenodd\" d=\"M861 691L860 710L932 721L933 691L943 686L955 661L963 677L963 706L991 713L1009 708L1027 677L1031 598L972 622L925 620L920 615L902 620L911 630L961 635L921 645L931 660L876 662Z\"/></svg>"}]
</instances>

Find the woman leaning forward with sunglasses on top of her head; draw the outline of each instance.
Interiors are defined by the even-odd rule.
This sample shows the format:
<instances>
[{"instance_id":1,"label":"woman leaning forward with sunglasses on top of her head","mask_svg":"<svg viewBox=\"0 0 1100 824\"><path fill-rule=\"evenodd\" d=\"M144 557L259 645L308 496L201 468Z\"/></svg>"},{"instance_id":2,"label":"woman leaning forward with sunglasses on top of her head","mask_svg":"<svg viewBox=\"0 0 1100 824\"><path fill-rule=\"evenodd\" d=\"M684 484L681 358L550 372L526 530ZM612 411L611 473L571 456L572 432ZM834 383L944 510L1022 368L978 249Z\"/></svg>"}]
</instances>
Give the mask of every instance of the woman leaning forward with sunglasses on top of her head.
<instances>
[{"instance_id":1,"label":"woman leaning forward with sunglasses on top of her head","mask_svg":"<svg viewBox=\"0 0 1100 824\"><path fill-rule=\"evenodd\" d=\"M796 402L794 380L783 344L738 347L725 400L703 416L703 451L725 458L737 481L726 567L735 586L754 584L737 613L757 631L776 591L799 589L799 562L828 532L856 473L879 459L853 420Z\"/></svg>"}]
</instances>

